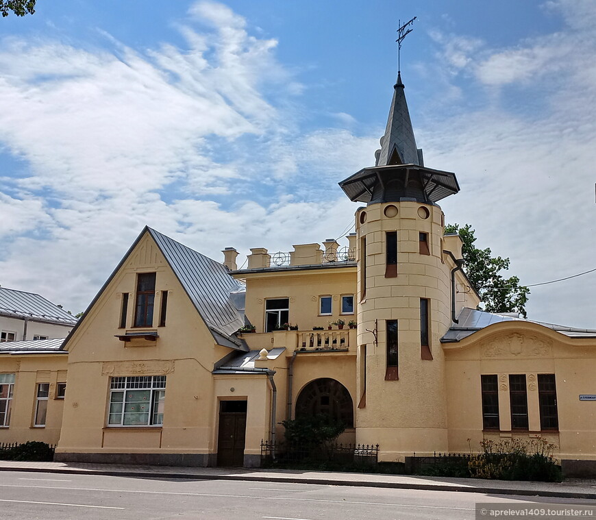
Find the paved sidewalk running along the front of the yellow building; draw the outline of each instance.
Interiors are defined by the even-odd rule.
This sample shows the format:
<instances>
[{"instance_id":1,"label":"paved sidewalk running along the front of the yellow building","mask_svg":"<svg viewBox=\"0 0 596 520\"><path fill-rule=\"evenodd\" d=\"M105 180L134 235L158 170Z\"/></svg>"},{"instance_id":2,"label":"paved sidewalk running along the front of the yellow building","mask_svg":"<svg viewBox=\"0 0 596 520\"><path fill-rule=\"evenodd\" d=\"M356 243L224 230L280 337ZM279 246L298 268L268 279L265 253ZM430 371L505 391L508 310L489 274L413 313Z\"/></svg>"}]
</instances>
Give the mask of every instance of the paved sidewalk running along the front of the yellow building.
<instances>
[{"instance_id":1,"label":"paved sidewalk running along the front of the yellow building","mask_svg":"<svg viewBox=\"0 0 596 520\"><path fill-rule=\"evenodd\" d=\"M380 475L376 473L334 473L331 471L133 466L75 462L16 462L13 460L0 460L0 471L42 471L45 473L77 473L83 475L115 475L136 478L157 477L186 480L248 480L253 482L288 482L332 486L458 491L462 493L487 493L491 495L596 499L596 480L578 479L571 479L558 484L550 482L508 482L505 480L470 478Z\"/></svg>"}]
</instances>

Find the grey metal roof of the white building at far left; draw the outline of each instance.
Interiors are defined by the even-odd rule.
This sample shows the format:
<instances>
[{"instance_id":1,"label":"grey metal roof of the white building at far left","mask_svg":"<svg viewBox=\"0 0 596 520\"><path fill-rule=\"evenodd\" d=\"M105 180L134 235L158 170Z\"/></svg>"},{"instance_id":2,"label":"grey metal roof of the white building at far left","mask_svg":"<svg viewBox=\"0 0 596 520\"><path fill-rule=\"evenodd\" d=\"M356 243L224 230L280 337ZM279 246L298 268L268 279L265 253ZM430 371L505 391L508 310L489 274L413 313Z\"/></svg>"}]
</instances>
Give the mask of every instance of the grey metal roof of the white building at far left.
<instances>
[{"instance_id":1,"label":"grey metal roof of the white building at far left","mask_svg":"<svg viewBox=\"0 0 596 520\"><path fill-rule=\"evenodd\" d=\"M77 319L64 309L35 293L0 287L0 315L13 318L29 318L45 323L75 325Z\"/></svg>"}]
</instances>

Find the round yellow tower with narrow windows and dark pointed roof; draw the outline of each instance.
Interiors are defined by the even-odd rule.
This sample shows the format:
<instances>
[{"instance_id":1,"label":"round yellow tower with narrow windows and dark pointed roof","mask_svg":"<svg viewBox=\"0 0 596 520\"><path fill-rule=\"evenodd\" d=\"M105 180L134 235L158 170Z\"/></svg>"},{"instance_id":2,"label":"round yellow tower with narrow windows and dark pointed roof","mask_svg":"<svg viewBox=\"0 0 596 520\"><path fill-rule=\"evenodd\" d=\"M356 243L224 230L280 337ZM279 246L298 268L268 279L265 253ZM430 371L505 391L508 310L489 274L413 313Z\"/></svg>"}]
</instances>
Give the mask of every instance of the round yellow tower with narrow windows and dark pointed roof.
<instances>
[{"instance_id":1,"label":"round yellow tower with narrow windows and dark pointed roof","mask_svg":"<svg viewBox=\"0 0 596 520\"><path fill-rule=\"evenodd\" d=\"M451 325L443 211L453 173L425 168L398 75L377 164L340 182L356 211L358 408L356 441L380 460L447 449L445 361Z\"/></svg>"}]
</instances>

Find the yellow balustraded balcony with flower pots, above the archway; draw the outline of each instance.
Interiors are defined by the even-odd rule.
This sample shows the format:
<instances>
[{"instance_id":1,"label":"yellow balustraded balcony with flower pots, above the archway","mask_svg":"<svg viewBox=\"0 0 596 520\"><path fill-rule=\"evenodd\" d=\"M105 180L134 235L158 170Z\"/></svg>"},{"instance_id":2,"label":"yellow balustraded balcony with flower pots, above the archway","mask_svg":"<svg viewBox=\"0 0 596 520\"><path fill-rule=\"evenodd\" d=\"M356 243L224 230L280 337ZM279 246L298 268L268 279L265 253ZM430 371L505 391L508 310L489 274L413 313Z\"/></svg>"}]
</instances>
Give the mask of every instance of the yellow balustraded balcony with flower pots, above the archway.
<instances>
[{"instance_id":1,"label":"yellow balustraded balcony with flower pots, above the archway","mask_svg":"<svg viewBox=\"0 0 596 520\"><path fill-rule=\"evenodd\" d=\"M356 353L356 329L343 330L277 330L243 334L251 350L285 348L297 353Z\"/></svg>"}]
</instances>

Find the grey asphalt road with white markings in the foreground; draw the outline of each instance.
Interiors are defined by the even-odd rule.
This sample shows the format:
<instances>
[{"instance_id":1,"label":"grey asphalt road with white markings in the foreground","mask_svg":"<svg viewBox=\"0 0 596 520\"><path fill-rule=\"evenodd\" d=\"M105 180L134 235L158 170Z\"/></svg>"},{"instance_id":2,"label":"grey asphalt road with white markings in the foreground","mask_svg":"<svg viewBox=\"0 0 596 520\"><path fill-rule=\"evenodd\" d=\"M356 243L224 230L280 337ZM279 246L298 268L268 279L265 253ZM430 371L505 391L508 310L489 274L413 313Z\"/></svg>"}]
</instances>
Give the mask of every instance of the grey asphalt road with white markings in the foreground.
<instances>
[{"instance_id":1,"label":"grey asphalt road with white markings in the foreground","mask_svg":"<svg viewBox=\"0 0 596 520\"><path fill-rule=\"evenodd\" d=\"M279 482L0 471L0 519L474 519L477 503L596 501Z\"/></svg>"}]
</instances>

